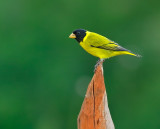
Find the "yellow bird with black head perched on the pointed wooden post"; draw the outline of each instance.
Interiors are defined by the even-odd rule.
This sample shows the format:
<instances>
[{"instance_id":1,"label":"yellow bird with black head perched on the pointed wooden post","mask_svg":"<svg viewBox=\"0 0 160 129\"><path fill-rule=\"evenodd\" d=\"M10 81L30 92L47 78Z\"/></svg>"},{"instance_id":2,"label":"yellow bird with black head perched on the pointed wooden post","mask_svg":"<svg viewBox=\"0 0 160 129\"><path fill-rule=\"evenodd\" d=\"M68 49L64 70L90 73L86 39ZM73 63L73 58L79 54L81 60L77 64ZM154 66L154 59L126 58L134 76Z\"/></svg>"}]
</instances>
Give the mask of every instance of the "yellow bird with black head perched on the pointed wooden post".
<instances>
[{"instance_id":1,"label":"yellow bird with black head perched on the pointed wooden post","mask_svg":"<svg viewBox=\"0 0 160 129\"><path fill-rule=\"evenodd\" d=\"M89 54L99 58L95 65L95 70L105 59L118 55L132 55L140 57L138 54L132 53L130 50L120 46L118 43L106 38L95 32L90 32L85 29L76 29L69 38L76 39L80 46Z\"/></svg>"}]
</instances>

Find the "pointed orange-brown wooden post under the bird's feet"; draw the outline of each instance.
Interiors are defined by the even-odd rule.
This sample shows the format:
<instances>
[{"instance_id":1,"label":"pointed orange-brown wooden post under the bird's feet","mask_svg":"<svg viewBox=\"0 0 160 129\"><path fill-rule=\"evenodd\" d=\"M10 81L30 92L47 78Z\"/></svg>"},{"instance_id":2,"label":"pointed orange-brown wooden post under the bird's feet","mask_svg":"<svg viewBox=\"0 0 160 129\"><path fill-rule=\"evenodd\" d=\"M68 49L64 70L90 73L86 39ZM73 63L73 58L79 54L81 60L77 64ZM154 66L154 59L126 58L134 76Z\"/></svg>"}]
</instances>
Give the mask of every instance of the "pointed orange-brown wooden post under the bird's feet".
<instances>
[{"instance_id":1,"label":"pointed orange-brown wooden post under the bird's feet","mask_svg":"<svg viewBox=\"0 0 160 129\"><path fill-rule=\"evenodd\" d=\"M115 129L108 108L102 65L97 67L88 85L77 120L78 129Z\"/></svg>"}]
</instances>

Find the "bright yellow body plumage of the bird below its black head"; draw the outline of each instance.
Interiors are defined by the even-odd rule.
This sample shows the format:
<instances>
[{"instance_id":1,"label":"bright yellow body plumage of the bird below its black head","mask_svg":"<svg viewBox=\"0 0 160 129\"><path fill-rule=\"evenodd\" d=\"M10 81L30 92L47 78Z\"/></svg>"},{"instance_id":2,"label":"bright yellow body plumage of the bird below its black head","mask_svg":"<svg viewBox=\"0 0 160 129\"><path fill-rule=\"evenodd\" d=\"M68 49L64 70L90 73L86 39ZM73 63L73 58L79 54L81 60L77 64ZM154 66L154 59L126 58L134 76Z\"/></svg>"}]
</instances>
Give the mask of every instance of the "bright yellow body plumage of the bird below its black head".
<instances>
[{"instance_id":1,"label":"bright yellow body plumage of the bird below its black head","mask_svg":"<svg viewBox=\"0 0 160 129\"><path fill-rule=\"evenodd\" d=\"M93 56L97 56L100 59L110 58L112 56L129 54L136 56L135 54L120 47L117 43L109 40L108 38L101 36L93 32L86 32L86 36L80 45L84 50ZM120 51L120 48L122 51Z\"/></svg>"}]
</instances>

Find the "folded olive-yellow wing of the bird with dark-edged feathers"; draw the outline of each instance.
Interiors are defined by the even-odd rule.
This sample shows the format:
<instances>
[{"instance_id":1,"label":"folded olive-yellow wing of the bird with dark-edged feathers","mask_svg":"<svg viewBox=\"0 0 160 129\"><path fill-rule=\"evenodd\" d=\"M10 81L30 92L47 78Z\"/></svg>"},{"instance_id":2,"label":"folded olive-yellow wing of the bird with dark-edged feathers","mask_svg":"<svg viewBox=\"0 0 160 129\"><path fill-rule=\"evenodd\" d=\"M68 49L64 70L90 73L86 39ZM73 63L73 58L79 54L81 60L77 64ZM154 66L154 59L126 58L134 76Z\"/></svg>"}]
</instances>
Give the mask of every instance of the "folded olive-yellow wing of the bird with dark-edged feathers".
<instances>
[{"instance_id":1,"label":"folded olive-yellow wing of the bird with dark-edged feathers","mask_svg":"<svg viewBox=\"0 0 160 129\"><path fill-rule=\"evenodd\" d=\"M91 47L112 51L128 51L127 49L121 47L114 41L111 41L108 38L98 34L90 35L90 39L92 39L90 40Z\"/></svg>"}]
</instances>

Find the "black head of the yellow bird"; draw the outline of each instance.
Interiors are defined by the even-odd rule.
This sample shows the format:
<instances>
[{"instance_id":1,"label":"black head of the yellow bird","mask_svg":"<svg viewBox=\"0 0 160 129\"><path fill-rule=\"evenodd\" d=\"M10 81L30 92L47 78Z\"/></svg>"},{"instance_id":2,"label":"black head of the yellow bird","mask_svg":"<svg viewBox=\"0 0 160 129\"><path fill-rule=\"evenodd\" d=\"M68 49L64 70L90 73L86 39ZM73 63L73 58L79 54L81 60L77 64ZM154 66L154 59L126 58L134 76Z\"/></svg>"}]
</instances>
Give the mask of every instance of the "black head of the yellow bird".
<instances>
[{"instance_id":1,"label":"black head of the yellow bird","mask_svg":"<svg viewBox=\"0 0 160 129\"><path fill-rule=\"evenodd\" d=\"M81 42L83 41L84 37L86 36L86 30L84 29L77 29L75 31L73 31L72 33L73 35L75 35L75 39L78 41L78 42ZM72 37L73 38L73 37Z\"/></svg>"}]
</instances>

